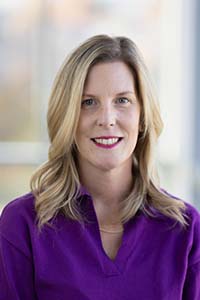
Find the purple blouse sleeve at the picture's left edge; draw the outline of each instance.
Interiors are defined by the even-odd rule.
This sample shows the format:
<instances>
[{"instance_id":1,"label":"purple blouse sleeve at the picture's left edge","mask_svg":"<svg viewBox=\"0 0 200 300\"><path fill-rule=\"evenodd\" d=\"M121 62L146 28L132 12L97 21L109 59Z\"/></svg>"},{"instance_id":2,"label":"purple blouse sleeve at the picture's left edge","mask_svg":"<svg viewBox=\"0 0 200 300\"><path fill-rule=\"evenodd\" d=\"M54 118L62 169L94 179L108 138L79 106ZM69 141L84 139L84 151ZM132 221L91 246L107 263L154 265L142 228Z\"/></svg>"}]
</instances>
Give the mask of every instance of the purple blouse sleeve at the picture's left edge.
<instances>
[{"instance_id":1,"label":"purple blouse sleeve at the picture's left edge","mask_svg":"<svg viewBox=\"0 0 200 300\"><path fill-rule=\"evenodd\" d=\"M0 300L36 300L31 260L0 235Z\"/></svg>"}]
</instances>

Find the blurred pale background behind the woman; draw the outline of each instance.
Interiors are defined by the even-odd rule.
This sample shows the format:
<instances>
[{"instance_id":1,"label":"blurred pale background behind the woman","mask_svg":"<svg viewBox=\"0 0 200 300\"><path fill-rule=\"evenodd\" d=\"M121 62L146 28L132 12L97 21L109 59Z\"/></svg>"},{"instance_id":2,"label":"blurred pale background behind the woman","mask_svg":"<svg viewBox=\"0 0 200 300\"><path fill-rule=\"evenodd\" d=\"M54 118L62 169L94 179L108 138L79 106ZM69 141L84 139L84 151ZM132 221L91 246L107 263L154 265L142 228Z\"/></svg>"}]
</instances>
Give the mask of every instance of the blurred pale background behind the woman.
<instances>
[{"instance_id":1,"label":"blurred pale background behind the woman","mask_svg":"<svg viewBox=\"0 0 200 300\"><path fill-rule=\"evenodd\" d=\"M46 112L67 53L94 34L125 35L143 53L159 97L161 185L200 209L200 2L0 1L0 211L29 192L47 159Z\"/></svg>"}]
</instances>

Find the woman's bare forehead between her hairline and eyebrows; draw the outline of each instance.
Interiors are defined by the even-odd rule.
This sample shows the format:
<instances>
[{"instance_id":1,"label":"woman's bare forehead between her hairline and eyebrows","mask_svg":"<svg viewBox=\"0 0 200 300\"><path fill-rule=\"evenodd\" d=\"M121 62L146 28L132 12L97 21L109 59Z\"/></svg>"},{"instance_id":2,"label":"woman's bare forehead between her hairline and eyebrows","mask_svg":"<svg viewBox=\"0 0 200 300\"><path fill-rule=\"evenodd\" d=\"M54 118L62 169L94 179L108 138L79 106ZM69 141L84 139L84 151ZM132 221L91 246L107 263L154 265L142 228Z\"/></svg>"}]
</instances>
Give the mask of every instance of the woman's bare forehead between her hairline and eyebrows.
<instances>
[{"instance_id":1,"label":"woman's bare forehead between her hairline and eyebrows","mask_svg":"<svg viewBox=\"0 0 200 300\"><path fill-rule=\"evenodd\" d=\"M124 62L98 63L88 72L84 93L120 93L135 91L134 76Z\"/></svg>"}]
</instances>

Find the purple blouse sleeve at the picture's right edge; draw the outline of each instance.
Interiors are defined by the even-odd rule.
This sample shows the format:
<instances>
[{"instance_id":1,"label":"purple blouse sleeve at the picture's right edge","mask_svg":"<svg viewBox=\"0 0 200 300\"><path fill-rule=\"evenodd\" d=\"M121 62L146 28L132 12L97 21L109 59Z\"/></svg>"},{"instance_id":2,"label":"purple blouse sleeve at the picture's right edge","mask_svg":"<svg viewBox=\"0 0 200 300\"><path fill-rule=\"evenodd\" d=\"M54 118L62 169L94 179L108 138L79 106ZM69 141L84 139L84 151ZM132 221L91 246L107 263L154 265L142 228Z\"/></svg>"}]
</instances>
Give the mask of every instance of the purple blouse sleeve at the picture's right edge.
<instances>
[{"instance_id":1,"label":"purple blouse sleeve at the picture's right edge","mask_svg":"<svg viewBox=\"0 0 200 300\"><path fill-rule=\"evenodd\" d=\"M200 262L188 268L183 300L200 300Z\"/></svg>"}]
</instances>

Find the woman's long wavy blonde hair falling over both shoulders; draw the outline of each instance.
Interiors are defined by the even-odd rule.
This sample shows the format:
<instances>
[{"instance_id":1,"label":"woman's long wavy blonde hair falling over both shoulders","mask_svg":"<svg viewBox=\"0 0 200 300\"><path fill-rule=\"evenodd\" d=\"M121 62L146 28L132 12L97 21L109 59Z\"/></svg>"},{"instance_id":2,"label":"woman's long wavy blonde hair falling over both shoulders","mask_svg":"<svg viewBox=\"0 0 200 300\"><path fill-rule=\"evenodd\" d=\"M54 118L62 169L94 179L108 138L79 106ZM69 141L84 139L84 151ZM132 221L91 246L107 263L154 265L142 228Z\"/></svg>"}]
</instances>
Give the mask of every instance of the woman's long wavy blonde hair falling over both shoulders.
<instances>
[{"instance_id":1,"label":"woman's long wavy blonde hair falling over both shoulders","mask_svg":"<svg viewBox=\"0 0 200 300\"><path fill-rule=\"evenodd\" d=\"M122 61L132 70L141 105L140 132L133 153L134 185L121 206L121 221L127 222L138 210L155 217L154 211L187 225L183 201L160 188L155 165L155 146L162 131L159 105L148 71L137 46L126 37L97 35L86 40L64 61L53 85L47 123L50 138L48 161L31 178L38 226L49 224L59 212L82 221L76 199L80 180L76 164L75 135L84 83L97 63Z\"/></svg>"}]
</instances>

